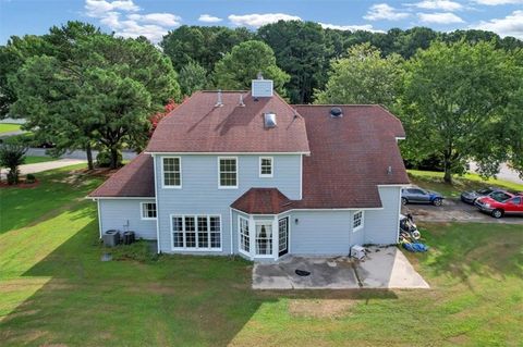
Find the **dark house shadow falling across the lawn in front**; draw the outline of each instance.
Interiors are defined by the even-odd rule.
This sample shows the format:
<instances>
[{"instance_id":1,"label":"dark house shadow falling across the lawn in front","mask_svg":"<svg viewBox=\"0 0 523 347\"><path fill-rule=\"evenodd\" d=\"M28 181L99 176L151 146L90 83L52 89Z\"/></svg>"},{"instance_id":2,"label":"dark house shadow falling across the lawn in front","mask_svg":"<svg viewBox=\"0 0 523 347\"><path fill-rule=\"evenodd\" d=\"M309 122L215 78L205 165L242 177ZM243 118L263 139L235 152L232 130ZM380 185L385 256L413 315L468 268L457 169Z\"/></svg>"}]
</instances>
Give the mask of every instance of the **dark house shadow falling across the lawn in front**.
<instances>
[{"instance_id":1,"label":"dark house shadow falling across the lawn in front","mask_svg":"<svg viewBox=\"0 0 523 347\"><path fill-rule=\"evenodd\" d=\"M162 256L150 262L101 262L102 252L93 221L27 270L21 281L50 280L0 322L0 340L226 346L266 303L397 298L388 290L255 292L252 263L238 258Z\"/></svg>"}]
</instances>

